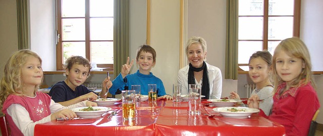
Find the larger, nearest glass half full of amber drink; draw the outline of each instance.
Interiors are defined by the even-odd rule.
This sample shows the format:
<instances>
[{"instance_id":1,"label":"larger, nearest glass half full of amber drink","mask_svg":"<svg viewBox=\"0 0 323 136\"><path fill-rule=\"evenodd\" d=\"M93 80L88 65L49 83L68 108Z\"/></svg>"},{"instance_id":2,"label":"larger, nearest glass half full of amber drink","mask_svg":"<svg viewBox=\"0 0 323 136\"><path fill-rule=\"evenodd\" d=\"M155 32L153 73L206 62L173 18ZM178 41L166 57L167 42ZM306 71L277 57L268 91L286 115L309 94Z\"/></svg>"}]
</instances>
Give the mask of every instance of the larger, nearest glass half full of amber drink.
<instances>
[{"instance_id":1,"label":"larger, nearest glass half full of amber drink","mask_svg":"<svg viewBox=\"0 0 323 136\"><path fill-rule=\"evenodd\" d=\"M122 117L124 120L134 120L136 113L135 90L122 90Z\"/></svg>"}]
</instances>

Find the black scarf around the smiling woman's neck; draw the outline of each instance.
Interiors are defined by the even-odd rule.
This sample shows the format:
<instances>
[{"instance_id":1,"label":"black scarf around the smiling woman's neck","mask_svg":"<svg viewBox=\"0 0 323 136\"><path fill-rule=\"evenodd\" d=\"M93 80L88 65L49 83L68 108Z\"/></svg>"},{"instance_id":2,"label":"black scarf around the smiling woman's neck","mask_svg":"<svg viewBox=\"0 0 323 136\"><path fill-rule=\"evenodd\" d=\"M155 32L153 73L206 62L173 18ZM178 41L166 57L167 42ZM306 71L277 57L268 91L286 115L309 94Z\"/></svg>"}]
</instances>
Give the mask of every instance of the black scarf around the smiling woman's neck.
<instances>
[{"instance_id":1,"label":"black scarf around the smiling woman's neck","mask_svg":"<svg viewBox=\"0 0 323 136\"><path fill-rule=\"evenodd\" d=\"M201 94L205 96L204 99L209 99L209 94L210 94L210 87L208 83L208 75L207 75L207 67L206 63L203 62L202 67L200 68L195 68L192 66L192 64L189 64L190 68L188 69L188 84L195 84L195 77L194 77L194 72L198 72L203 70L203 78L202 78L202 92Z\"/></svg>"}]
</instances>

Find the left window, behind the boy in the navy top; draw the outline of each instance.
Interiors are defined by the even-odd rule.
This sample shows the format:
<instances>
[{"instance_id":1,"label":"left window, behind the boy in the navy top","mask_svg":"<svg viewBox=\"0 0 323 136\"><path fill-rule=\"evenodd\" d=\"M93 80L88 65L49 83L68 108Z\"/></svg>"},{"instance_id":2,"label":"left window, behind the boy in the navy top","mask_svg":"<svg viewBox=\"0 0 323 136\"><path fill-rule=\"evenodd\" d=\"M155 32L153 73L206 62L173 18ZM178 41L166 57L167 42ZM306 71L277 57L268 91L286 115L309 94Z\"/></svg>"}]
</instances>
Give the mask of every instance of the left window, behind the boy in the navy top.
<instances>
[{"instance_id":1,"label":"left window, behind the boy in the navy top","mask_svg":"<svg viewBox=\"0 0 323 136\"><path fill-rule=\"evenodd\" d=\"M57 1L57 70L75 55L113 70L113 8L113 0Z\"/></svg>"}]
</instances>

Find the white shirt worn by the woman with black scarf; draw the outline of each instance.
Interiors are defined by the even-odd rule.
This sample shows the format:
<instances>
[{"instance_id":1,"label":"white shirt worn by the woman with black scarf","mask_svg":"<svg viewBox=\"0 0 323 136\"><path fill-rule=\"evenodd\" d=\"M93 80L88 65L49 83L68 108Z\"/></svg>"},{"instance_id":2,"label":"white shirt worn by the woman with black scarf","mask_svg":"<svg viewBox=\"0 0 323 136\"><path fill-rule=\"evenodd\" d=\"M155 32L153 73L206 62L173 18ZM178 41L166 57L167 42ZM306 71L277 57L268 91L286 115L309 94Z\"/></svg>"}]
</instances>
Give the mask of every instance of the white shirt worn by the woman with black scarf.
<instances>
[{"instance_id":1,"label":"white shirt worn by the woman with black scarf","mask_svg":"<svg viewBox=\"0 0 323 136\"><path fill-rule=\"evenodd\" d=\"M210 88L209 99L220 99L222 94L221 70L218 67L209 65L208 63L206 63L206 68ZM189 65L178 71L177 82L182 85L182 95L188 95L188 70ZM196 79L195 84L200 85Z\"/></svg>"}]
</instances>

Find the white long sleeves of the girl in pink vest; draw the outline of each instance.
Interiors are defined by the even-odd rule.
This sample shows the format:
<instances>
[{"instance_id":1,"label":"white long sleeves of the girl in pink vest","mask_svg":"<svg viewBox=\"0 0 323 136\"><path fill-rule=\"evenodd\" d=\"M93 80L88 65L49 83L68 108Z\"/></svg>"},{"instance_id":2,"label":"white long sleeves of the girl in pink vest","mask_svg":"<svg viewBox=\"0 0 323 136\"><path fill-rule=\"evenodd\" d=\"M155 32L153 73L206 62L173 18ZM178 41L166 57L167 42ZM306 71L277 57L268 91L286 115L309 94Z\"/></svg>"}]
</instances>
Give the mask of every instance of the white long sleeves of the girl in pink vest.
<instances>
[{"instance_id":1,"label":"white long sleeves of the girl in pink vest","mask_svg":"<svg viewBox=\"0 0 323 136\"><path fill-rule=\"evenodd\" d=\"M77 104L65 107L59 103L55 103L53 100L50 100L49 109L51 113L58 112L63 109L70 109L76 107L85 107L86 101L79 102ZM51 121L50 115L44 117L43 119L33 122L30 119L28 111L21 106L20 104L12 104L7 109L8 114L12 117L13 121L15 122L16 126L21 130L24 135L34 135L34 128L35 125L38 123L46 123Z\"/></svg>"}]
</instances>

